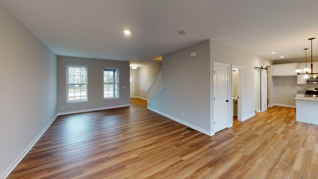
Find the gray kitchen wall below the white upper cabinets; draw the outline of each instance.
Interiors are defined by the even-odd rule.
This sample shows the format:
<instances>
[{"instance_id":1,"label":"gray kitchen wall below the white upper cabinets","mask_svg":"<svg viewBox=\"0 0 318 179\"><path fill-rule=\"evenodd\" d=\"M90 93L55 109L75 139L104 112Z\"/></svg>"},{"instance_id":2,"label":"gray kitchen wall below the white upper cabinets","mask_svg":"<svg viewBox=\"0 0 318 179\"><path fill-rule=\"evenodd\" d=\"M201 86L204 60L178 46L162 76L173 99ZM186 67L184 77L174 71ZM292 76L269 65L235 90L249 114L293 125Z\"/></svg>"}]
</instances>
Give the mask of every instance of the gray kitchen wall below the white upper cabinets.
<instances>
[{"instance_id":1,"label":"gray kitchen wall below the white upper cabinets","mask_svg":"<svg viewBox=\"0 0 318 179\"><path fill-rule=\"evenodd\" d=\"M296 106L295 94L297 90L306 90L306 87L318 87L315 84L297 85L297 76L271 77L275 104Z\"/></svg>"}]
</instances>

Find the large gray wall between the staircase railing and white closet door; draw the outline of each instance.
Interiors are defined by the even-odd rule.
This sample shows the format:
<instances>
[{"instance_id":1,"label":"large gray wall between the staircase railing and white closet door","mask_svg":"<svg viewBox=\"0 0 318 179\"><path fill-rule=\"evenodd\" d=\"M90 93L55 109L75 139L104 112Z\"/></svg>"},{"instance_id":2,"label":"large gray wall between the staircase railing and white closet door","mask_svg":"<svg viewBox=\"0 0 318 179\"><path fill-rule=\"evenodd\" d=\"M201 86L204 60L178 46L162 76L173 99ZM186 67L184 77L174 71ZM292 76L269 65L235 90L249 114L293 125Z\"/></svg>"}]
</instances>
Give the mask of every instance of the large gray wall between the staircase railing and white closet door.
<instances>
[{"instance_id":1,"label":"large gray wall between the staircase railing and white closet door","mask_svg":"<svg viewBox=\"0 0 318 179\"><path fill-rule=\"evenodd\" d=\"M150 107L210 131L210 40L162 56L162 89Z\"/></svg>"}]
</instances>

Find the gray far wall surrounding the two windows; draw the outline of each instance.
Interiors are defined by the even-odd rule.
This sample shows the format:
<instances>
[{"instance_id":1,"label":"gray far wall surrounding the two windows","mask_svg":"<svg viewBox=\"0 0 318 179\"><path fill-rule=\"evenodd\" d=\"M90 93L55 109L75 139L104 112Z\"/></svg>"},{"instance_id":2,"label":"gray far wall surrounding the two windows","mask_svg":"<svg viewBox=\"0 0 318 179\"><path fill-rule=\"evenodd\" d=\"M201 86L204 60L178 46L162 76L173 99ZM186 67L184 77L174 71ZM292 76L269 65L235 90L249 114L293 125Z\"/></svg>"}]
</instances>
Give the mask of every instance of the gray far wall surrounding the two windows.
<instances>
[{"instance_id":1,"label":"gray far wall surrounding the two windows","mask_svg":"<svg viewBox=\"0 0 318 179\"><path fill-rule=\"evenodd\" d=\"M88 101L67 103L66 66L87 66ZM119 69L119 98L103 98L103 69ZM58 112L73 112L130 104L129 62L58 56ZM126 87L126 89L124 89ZM64 109L61 109L61 107Z\"/></svg>"}]
</instances>

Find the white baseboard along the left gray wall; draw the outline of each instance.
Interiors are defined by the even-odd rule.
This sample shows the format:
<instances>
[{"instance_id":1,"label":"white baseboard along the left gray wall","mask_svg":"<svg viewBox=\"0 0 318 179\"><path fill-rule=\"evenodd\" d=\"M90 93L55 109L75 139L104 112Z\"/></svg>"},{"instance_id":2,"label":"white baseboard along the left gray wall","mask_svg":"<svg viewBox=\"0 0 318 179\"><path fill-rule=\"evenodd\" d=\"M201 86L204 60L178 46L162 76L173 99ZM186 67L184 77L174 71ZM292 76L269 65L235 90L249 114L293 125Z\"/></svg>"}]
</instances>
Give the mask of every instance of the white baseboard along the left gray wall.
<instances>
[{"instance_id":1,"label":"white baseboard along the left gray wall","mask_svg":"<svg viewBox=\"0 0 318 179\"><path fill-rule=\"evenodd\" d=\"M53 119L45 126L45 128L33 139L33 141L24 149L24 151L14 160L14 162L0 175L0 179L5 179L13 171L13 169L21 162L25 155L32 149L34 144L41 138L44 132L50 127L53 121L58 117L56 114Z\"/></svg>"}]
</instances>

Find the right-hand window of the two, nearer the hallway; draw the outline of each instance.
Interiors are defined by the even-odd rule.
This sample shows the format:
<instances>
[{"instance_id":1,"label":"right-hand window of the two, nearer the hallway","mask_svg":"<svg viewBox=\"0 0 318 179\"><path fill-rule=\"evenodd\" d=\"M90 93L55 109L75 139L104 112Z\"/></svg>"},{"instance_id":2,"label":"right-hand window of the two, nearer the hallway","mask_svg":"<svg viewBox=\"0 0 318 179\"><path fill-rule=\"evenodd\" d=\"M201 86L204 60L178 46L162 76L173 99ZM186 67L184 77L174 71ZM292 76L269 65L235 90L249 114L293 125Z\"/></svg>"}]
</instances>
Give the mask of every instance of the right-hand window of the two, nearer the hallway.
<instances>
[{"instance_id":1,"label":"right-hand window of the two, nearer the hallway","mask_svg":"<svg viewBox=\"0 0 318 179\"><path fill-rule=\"evenodd\" d=\"M118 98L118 69L104 69L104 98Z\"/></svg>"}]
</instances>

